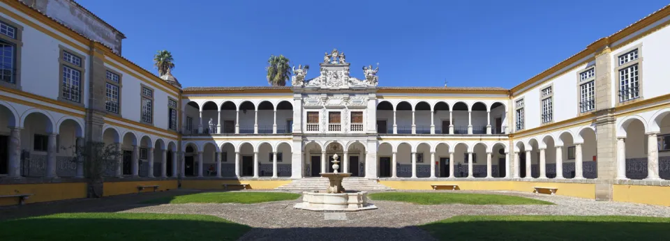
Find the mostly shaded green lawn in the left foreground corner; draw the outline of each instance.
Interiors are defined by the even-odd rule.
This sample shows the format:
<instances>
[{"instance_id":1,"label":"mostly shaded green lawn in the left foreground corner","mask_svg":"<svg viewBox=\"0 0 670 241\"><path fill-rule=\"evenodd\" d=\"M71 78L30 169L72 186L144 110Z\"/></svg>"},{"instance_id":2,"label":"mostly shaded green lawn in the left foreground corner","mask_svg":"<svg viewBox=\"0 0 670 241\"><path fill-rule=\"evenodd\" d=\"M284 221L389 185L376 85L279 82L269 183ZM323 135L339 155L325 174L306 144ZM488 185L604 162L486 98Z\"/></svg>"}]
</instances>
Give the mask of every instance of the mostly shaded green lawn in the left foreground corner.
<instances>
[{"instance_id":1,"label":"mostly shaded green lawn in the left foreground corner","mask_svg":"<svg viewBox=\"0 0 670 241\"><path fill-rule=\"evenodd\" d=\"M0 221L0 240L237 240L249 230L209 215L82 212Z\"/></svg>"}]
</instances>

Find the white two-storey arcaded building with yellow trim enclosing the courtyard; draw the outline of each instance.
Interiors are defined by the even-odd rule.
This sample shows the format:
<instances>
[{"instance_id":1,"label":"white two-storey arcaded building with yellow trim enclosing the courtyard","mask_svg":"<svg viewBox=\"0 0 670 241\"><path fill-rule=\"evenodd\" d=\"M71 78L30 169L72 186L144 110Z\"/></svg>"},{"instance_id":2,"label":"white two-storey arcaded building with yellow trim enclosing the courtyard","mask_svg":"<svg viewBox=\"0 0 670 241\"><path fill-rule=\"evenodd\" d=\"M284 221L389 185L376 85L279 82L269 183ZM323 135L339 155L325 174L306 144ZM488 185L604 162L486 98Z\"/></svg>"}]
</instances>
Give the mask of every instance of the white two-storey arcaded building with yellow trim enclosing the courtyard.
<instances>
[{"instance_id":1,"label":"white two-storey arcaded building with yellow trim enclosing the courtyard","mask_svg":"<svg viewBox=\"0 0 670 241\"><path fill-rule=\"evenodd\" d=\"M670 178L668 7L511 89L387 87L336 50L292 86L182 88L48 2L0 1L0 179L82 177L64 147L85 141L123 151L116 178L307 178L334 154L363 178L589 182L599 199Z\"/></svg>"}]
</instances>

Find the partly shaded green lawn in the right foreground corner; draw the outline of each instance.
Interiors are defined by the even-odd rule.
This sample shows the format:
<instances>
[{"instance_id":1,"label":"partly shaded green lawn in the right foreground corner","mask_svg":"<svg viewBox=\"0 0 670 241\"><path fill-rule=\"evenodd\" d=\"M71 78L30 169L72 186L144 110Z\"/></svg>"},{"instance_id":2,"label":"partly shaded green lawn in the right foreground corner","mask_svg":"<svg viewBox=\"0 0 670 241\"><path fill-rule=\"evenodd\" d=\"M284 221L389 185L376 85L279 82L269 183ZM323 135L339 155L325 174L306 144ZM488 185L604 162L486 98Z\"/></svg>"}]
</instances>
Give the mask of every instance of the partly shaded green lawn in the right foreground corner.
<instances>
[{"instance_id":1,"label":"partly shaded green lawn in the right foreground corner","mask_svg":"<svg viewBox=\"0 0 670 241\"><path fill-rule=\"evenodd\" d=\"M419 226L438 240L667 240L670 218L456 216Z\"/></svg>"}]
</instances>

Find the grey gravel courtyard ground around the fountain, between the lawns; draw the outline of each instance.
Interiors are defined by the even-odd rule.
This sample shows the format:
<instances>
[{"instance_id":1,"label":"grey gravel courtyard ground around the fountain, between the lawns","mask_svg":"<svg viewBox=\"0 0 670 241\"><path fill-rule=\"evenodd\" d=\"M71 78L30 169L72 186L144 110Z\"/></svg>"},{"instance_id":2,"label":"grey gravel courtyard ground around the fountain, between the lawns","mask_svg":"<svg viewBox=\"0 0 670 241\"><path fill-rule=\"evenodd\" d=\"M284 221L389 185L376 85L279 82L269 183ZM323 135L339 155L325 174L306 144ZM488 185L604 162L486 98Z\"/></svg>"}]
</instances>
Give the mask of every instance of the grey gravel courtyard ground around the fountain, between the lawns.
<instances>
[{"instance_id":1,"label":"grey gravel courtyard ground around the fountain, between the lawns","mask_svg":"<svg viewBox=\"0 0 670 241\"><path fill-rule=\"evenodd\" d=\"M449 192L449 191L441 191ZM457 191L464 192L464 191ZM636 215L670 217L670 207L635 203L601 202L566 196L521 192L472 192L524 196L556 205L416 205L374 201L377 210L347 212L347 220L326 220L325 212L296 210L295 201L257 204L137 205L121 212L203 214L252 226L241 240L432 240L416 228L420 224L455 215Z\"/></svg>"}]
</instances>

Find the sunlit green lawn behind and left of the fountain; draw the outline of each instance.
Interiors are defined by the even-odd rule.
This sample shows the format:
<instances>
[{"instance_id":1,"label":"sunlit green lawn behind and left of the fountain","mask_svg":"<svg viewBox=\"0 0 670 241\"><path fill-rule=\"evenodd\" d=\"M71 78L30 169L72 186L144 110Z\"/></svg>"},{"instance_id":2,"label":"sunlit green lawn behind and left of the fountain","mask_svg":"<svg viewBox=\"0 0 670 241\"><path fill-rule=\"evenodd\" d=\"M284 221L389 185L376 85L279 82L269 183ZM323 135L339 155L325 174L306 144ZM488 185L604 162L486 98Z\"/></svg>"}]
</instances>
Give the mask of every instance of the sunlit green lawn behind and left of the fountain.
<instances>
[{"instance_id":1,"label":"sunlit green lawn behind and left of the fountain","mask_svg":"<svg viewBox=\"0 0 670 241\"><path fill-rule=\"evenodd\" d=\"M300 194L285 192L204 192L153 199L144 203L264 203L269 201L294 200Z\"/></svg>"}]
</instances>

